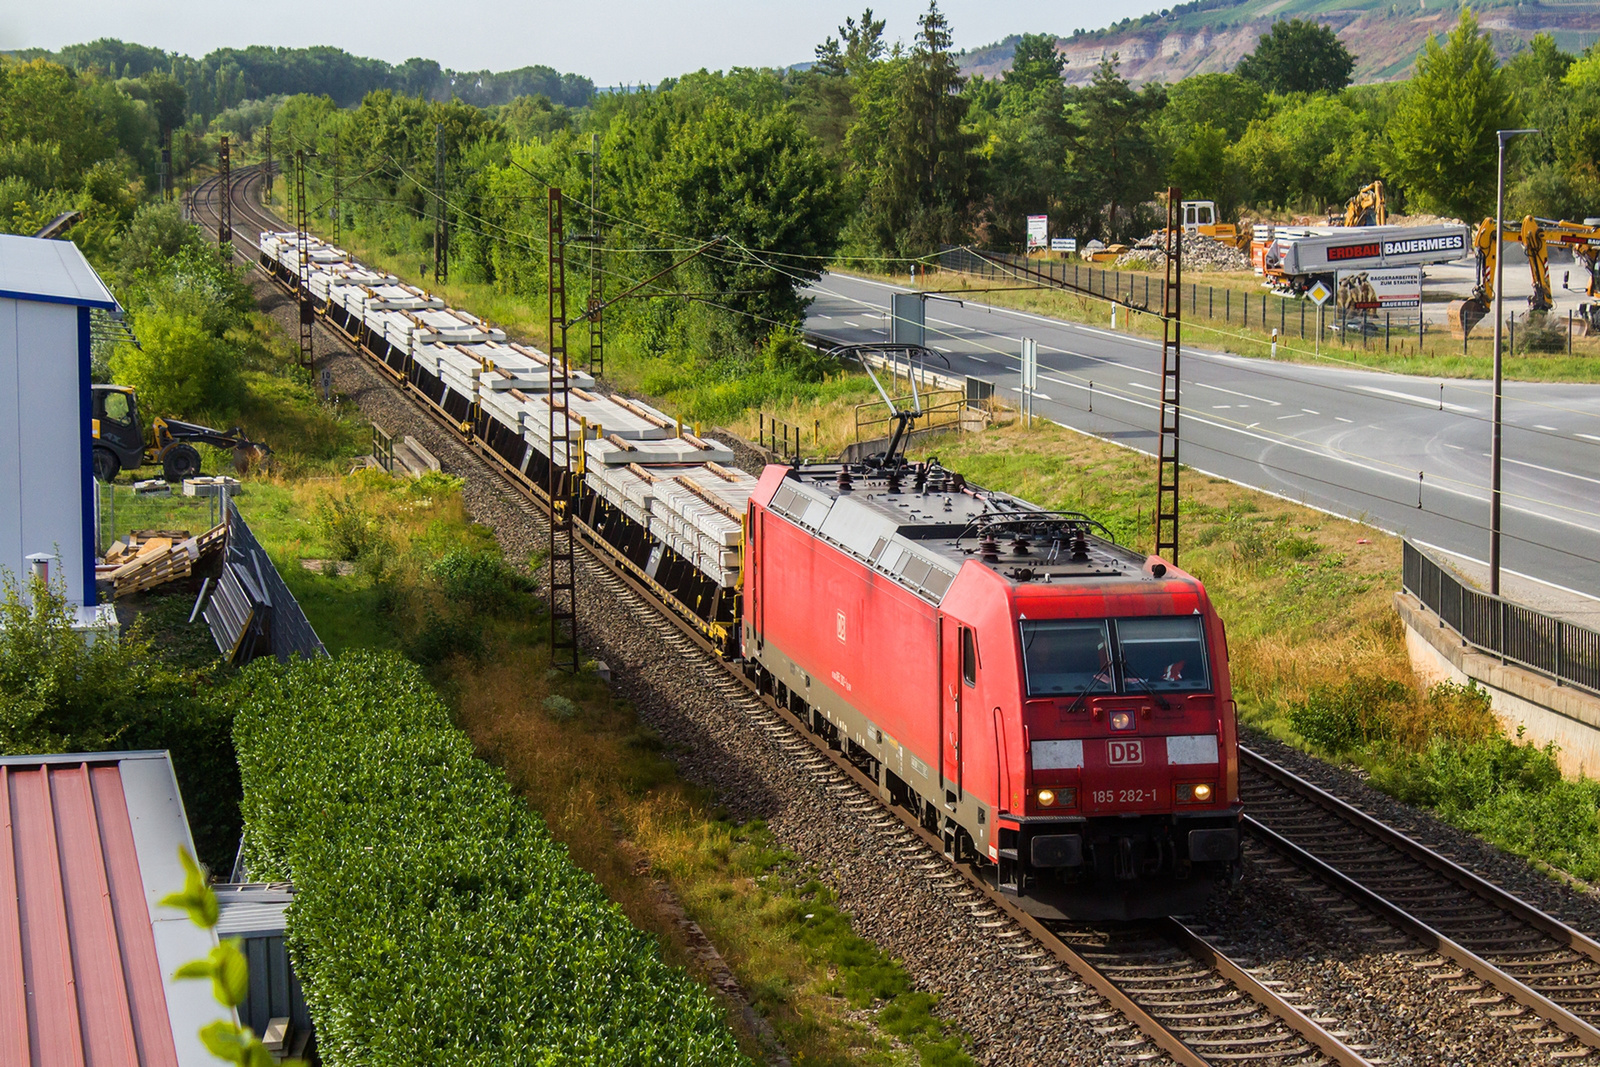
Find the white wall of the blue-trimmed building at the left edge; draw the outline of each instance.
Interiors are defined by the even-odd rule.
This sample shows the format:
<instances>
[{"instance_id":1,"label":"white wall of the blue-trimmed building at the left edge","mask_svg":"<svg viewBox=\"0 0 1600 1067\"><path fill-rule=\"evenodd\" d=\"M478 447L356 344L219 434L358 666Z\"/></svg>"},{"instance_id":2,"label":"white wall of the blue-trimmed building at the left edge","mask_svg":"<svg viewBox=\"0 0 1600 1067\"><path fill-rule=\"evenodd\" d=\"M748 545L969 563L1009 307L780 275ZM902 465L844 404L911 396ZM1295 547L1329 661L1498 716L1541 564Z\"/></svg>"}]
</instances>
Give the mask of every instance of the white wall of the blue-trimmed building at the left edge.
<instances>
[{"instance_id":1,"label":"white wall of the blue-trimmed building at the left edge","mask_svg":"<svg viewBox=\"0 0 1600 1067\"><path fill-rule=\"evenodd\" d=\"M93 494L86 490L86 390L80 309L0 299L0 573L54 558L67 597L93 595Z\"/></svg>"}]
</instances>

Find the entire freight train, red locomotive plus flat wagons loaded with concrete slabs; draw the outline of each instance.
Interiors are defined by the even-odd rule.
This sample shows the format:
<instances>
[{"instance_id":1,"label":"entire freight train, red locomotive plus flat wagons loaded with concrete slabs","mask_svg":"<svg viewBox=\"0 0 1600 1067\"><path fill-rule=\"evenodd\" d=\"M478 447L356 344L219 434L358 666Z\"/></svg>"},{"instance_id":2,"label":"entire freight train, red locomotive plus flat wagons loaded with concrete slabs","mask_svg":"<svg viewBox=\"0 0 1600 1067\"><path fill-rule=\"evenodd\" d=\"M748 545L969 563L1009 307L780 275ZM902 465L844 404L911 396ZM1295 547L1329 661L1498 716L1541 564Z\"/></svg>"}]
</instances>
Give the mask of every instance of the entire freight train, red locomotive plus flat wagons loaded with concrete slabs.
<instances>
[{"instance_id":1,"label":"entire freight train, red locomotive plus flat wagons loaded with concrete slabs","mask_svg":"<svg viewBox=\"0 0 1600 1067\"><path fill-rule=\"evenodd\" d=\"M1227 638L1192 576L893 450L750 477L578 371L562 410L549 355L336 248L259 251L507 477L542 496L554 461L589 547L1026 910L1181 913L1240 877Z\"/></svg>"}]
</instances>

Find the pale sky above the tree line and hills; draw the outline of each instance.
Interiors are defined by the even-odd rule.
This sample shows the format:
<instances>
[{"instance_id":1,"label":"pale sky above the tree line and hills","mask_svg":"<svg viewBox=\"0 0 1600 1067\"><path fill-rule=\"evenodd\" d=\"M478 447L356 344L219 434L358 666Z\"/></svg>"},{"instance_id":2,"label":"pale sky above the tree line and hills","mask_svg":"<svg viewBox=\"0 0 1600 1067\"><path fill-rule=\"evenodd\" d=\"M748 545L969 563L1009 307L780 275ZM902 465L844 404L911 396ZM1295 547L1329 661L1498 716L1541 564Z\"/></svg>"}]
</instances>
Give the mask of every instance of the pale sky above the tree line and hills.
<instances>
[{"instance_id":1,"label":"pale sky above the tree line and hills","mask_svg":"<svg viewBox=\"0 0 1600 1067\"><path fill-rule=\"evenodd\" d=\"M598 86L654 83L699 67L789 66L864 0L5 0L0 50L61 48L120 37L190 56L245 45L336 45L402 62L437 59L456 70L546 64ZM909 40L926 0L878 0L890 40ZM957 48L1008 34L1070 34L1160 10L1155 0L944 0Z\"/></svg>"}]
</instances>

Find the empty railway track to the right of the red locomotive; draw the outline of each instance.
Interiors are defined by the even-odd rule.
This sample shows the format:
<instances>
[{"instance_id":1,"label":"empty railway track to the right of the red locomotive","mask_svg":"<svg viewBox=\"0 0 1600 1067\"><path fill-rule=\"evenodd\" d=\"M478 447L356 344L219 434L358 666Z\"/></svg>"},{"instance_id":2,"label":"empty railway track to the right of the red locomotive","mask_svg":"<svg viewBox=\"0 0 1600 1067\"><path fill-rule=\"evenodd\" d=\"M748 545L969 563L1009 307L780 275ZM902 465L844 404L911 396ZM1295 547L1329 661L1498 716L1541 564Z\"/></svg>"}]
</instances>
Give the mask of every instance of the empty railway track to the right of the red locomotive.
<instances>
[{"instance_id":1,"label":"empty railway track to the right of the red locomotive","mask_svg":"<svg viewBox=\"0 0 1600 1067\"><path fill-rule=\"evenodd\" d=\"M1600 1049L1600 942L1243 745L1238 785L1248 833L1454 965L1435 981L1554 1059Z\"/></svg>"}]
</instances>

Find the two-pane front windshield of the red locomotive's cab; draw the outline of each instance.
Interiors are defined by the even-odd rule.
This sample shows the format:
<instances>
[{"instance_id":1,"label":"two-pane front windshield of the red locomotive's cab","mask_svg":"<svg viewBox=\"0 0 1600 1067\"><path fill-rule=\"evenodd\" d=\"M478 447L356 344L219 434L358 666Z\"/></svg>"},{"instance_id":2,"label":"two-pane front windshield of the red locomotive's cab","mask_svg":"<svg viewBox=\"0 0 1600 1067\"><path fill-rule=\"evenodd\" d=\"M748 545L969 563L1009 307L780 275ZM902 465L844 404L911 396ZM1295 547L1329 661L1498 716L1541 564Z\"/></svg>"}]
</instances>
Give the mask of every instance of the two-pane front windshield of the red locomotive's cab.
<instances>
[{"instance_id":1,"label":"two-pane front windshield of the red locomotive's cab","mask_svg":"<svg viewBox=\"0 0 1600 1067\"><path fill-rule=\"evenodd\" d=\"M1200 616L1024 621L1029 696L1080 693L1205 693Z\"/></svg>"}]
</instances>

